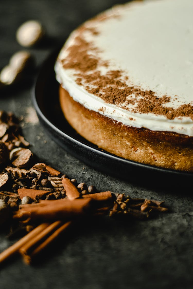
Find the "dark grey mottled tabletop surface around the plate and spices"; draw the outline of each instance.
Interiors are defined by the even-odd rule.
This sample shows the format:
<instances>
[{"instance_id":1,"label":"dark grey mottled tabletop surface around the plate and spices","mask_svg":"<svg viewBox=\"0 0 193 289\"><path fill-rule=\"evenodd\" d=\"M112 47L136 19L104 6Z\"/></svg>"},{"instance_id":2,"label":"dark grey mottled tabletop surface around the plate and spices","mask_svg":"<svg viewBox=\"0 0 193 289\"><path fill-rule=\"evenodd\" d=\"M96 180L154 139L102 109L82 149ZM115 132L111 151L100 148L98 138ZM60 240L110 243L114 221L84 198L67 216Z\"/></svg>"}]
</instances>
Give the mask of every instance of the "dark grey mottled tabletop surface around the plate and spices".
<instances>
[{"instance_id":1,"label":"dark grey mottled tabletop surface around the plate and spices","mask_svg":"<svg viewBox=\"0 0 193 289\"><path fill-rule=\"evenodd\" d=\"M0 109L23 118L23 135L42 161L101 191L165 200L170 212L148 221L122 223L108 218L85 221L80 231L68 240L60 240L39 264L26 266L21 259L13 259L0 268L1 289L192 288L192 187L182 184L177 189L173 183L168 188L161 178L152 189L151 175L141 185L133 183L129 175L127 181L122 181L95 171L55 144L33 115L31 89L43 60L82 22L123 2L1 0L0 68L22 49L15 33L24 21L40 20L49 40L41 48L29 49L36 60L36 71L27 75L18 87L0 91ZM0 234L0 252L12 243L6 234Z\"/></svg>"}]
</instances>

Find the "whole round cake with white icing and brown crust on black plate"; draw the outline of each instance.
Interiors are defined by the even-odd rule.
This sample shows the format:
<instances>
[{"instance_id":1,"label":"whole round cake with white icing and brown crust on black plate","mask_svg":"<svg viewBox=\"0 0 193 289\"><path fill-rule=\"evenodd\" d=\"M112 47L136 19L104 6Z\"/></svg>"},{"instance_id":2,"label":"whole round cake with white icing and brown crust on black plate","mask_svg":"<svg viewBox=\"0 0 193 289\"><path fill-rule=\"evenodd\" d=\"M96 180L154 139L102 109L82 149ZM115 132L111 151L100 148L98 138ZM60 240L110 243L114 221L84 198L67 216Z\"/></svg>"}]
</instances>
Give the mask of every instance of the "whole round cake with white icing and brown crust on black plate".
<instances>
[{"instance_id":1,"label":"whole round cake with white icing and brown crust on black plate","mask_svg":"<svg viewBox=\"0 0 193 289\"><path fill-rule=\"evenodd\" d=\"M136 162L193 171L193 1L132 1L71 33L56 64L65 118Z\"/></svg>"}]
</instances>

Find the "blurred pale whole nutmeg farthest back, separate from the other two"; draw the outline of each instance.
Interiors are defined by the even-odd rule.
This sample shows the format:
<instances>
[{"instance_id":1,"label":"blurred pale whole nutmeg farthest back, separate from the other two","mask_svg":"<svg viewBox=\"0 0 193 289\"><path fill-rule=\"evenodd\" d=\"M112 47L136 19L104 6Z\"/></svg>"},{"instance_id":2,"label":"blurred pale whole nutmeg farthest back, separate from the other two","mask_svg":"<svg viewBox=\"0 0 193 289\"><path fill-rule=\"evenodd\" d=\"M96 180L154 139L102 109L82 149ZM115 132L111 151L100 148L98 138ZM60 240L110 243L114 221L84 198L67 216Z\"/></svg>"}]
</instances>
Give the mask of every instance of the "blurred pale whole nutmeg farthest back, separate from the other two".
<instances>
[{"instance_id":1,"label":"blurred pale whole nutmeg farthest back, separate from the other two","mask_svg":"<svg viewBox=\"0 0 193 289\"><path fill-rule=\"evenodd\" d=\"M24 22L16 31L16 39L21 46L30 47L44 35L41 23L35 20Z\"/></svg>"}]
</instances>

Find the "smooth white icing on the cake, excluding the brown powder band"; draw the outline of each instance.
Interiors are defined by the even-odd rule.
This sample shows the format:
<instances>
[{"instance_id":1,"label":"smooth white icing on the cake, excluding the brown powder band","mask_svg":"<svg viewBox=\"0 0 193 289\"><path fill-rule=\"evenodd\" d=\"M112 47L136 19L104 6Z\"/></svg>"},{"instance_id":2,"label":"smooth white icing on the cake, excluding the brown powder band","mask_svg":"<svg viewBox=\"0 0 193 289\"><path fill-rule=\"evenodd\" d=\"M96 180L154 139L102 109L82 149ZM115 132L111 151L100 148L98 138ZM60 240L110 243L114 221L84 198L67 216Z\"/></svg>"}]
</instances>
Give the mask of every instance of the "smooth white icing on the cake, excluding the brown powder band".
<instances>
[{"instance_id":1,"label":"smooth white icing on the cake, excluding the brown powder band","mask_svg":"<svg viewBox=\"0 0 193 289\"><path fill-rule=\"evenodd\" d=\"M193 105L193 1L157 0L133 2L117 6L106 15L120 15L103 21L87 21L87 27L95 27L97 35L84 32L84 38L92 41L100 55L108 61L108 68L100 71L122 70L128 86L152 90L158 97L170 96L166 107ZM79 32L71 34L60 51L55 65L56 78L75 101L89 110L120 121L125 125L146 127L157 131L174 131L193 136L193 120L164 115L134 113L132 105L127 110L121 105L104 102L76 83L77 70L64 69L60 60L68 57L67 48L74 44ZM103 109L102 109L103 108Z\"/></svg>"}]
</instances>

